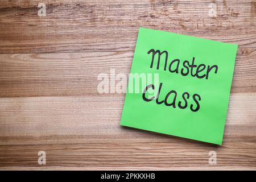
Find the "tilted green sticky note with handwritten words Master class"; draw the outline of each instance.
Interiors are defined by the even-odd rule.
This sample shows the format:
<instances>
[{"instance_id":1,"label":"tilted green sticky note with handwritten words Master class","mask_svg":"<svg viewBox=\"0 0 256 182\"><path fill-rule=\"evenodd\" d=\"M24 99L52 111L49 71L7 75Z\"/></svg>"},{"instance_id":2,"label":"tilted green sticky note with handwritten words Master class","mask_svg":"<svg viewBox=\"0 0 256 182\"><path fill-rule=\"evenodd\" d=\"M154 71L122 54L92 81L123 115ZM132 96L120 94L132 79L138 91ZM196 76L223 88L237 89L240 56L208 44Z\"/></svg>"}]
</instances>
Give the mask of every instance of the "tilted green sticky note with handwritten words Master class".
<instances>
[{"instance_id":1,"label":"tilted green sticky note with handwritten words Master class","mask_svg":"<svg viewBox=\"0 0 256 182\"><path fill-rule=\"evenodd\" d=\"M140 28L122 126L221 144L237 45Z\"/></svg>"}]
</instances>

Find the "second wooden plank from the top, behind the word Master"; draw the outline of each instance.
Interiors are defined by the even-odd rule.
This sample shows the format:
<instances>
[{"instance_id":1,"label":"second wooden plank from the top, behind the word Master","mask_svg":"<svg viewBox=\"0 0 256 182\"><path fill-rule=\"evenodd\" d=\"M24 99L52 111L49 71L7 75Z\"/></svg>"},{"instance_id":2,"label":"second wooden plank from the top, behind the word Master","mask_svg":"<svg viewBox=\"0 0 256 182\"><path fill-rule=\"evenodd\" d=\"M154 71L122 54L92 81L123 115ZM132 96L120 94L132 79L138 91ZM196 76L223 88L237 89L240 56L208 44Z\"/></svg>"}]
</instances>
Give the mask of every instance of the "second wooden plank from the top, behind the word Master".
<instances>
[{"instance_id":1,"label":"second wooden plank from the top, behind the word Master","mask_svg":"<svg viewBox=\"0 0 256 182\"><path fill-rule=\"evenodd\" d=\"M0 55L0 97L78 96L97 93L100 73L128 77L133 52ZM116 81L118 82L118 80ZM231 92L256 92L256 49L237 52Z\"/></svg>"}]
</instances>

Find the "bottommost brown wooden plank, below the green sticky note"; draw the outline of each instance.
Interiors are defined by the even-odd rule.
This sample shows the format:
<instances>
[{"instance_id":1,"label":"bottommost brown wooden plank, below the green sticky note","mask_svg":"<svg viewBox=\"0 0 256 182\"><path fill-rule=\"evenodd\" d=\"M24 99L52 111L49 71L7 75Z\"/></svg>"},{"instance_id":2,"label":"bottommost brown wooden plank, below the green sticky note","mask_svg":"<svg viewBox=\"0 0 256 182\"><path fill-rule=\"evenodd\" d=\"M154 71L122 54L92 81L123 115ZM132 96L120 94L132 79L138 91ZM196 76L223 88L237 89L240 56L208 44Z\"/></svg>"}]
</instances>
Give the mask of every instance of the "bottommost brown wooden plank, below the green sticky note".
<instances>
[{"instance_id":1,"label":"bottommost brown wooden plank, below the green sticky note","mask_svg":"<svg viewBox=\"0 0 256 182\"><path fill-rule=\"evenodd\" d=\"M0 146L0 169L256 169L256 142L226 142L216 147L189 141L102 141L84 144ZM46 165L38 152L46 152ZM209 151L217 164L210 165Z\"/></svg>"}]
</instances>

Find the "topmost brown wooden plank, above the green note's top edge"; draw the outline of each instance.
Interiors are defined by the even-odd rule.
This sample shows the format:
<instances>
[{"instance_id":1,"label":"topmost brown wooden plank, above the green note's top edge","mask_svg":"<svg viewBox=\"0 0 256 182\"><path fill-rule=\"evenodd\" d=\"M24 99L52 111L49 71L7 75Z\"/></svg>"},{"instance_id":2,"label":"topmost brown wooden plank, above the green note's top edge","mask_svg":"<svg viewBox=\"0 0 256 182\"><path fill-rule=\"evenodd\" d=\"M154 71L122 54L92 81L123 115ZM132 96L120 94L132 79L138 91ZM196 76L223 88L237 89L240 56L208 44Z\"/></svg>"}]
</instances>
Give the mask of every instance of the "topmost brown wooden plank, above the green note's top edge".
<instances>
[{"instance_id":1,"label":"topmost brown wooden plank, above the green note's top edge","mask_svg":"<svg viewBox=\"0 0 256 182\"><path fill-rule=\"evenodd\" d=\"M256 47L255 1L39 2L1 2L0 53L134 51L139 27Z\"/></svg>"}]
</instances>

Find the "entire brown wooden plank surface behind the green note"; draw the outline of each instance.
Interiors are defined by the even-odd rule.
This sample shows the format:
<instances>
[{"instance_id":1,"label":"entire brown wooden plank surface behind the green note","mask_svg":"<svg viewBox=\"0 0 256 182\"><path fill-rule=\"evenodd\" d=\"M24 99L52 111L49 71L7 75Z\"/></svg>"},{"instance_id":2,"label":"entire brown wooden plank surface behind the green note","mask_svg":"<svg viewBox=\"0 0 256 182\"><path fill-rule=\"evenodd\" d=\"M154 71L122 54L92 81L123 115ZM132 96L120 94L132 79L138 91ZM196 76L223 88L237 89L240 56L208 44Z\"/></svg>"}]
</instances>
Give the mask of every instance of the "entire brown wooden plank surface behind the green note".
<instances>
[{"instance_id":1,"label":"entire brown wooden plank surface behind the green note","mask_svg":"<svg viewBox=\"0 0 256 182\"><path fill-rule=\"evenodd\" d=\"M139 27L238 44L222 146L119 126ZM1 0L0 169L256 169L256 1Z\"/></svg>"}]
</instances>

